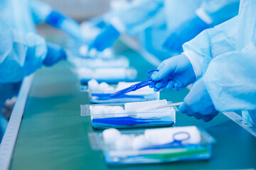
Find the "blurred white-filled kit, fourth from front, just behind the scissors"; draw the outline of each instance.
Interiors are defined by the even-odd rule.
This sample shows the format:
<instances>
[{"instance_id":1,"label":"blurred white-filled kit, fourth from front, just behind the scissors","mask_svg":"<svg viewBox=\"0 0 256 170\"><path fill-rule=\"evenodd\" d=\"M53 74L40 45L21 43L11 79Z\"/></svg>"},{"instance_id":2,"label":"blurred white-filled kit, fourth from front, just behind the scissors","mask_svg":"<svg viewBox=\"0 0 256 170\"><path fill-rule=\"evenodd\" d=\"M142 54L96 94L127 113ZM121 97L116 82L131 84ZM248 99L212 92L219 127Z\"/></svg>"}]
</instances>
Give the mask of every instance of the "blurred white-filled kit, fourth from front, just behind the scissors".
<instances>
[{"instance_id":1,"label":"blurred white-filled kit, fourth from front, just behind the scissors","mask_svg":"<svg viewBox=\"0 0 256 170\"><path fill-rule=\"evenodd\" d=\"M98 82L117 83L119 81L134 81L137 77L137 70L129 68L77 68L73 72L78 74L80 82L87 84L91 79Z\"/></svg>"}]
</instances>

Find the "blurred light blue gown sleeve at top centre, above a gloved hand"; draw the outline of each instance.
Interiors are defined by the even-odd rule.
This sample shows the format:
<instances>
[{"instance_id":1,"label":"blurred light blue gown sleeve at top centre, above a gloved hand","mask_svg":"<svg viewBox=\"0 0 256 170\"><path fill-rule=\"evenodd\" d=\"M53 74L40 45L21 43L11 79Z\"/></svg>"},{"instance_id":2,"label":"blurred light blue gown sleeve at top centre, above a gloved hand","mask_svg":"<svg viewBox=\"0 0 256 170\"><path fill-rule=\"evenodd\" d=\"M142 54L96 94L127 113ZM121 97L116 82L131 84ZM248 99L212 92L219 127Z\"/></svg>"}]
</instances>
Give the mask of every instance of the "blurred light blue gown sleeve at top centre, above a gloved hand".
<instances>
[{"instance_id":1,"label":"blurred light blue gown sleeve at top centre, above a gloved hand","mask_svg":"<svg viewBox=\"0 0 256 170\"><path fill-rule=\"evenodd\" d=\"M135 35L151 26L159 19L164 20L164 0L137 0L129 3L129 6L115 9L112 17L108 18L110 23L120 33ZM161 13L161 17L159 17ZM159 22L159 21L158 21Z\"/></svg>"}]
</instances>

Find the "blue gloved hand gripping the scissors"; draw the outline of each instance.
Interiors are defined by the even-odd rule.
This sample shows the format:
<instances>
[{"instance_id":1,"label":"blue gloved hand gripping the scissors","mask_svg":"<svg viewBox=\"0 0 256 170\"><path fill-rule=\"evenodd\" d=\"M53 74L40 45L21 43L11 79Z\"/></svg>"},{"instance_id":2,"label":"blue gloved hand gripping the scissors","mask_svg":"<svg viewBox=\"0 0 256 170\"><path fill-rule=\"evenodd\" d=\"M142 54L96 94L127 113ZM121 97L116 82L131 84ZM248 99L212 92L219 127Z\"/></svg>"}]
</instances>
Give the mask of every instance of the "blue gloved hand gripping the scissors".
<instances>
[{"instance_id":1,"label":"blue gloved hand gripping the scissors","mask_svg":"<svg viewBox=\"0 0 256 170\"><path fill-rule=\"evenodd\" d=\"M164 60L157 69L159 69L159 72L152 74L152 80L159 81L166 79L168 81L166 89L169 90L180 90L193 83L193 81L196 81L196 74L193 71L192 64L188 60L188 57L183 54ZM156 86L160 87L162 84L157 83ZM159 90L154 89L154 91Z\"/></svg>"}]
</instances>

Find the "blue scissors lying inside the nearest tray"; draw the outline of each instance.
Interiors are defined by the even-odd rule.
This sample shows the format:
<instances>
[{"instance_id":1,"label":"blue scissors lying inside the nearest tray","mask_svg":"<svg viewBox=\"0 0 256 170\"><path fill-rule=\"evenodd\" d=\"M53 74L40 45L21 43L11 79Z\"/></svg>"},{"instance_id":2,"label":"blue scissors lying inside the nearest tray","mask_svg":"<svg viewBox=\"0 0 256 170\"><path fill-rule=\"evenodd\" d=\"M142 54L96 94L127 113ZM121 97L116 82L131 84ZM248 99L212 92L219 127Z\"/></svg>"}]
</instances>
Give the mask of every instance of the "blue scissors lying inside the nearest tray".
<instances>
[{"instance_id":1,"label":"blue scissors lying inside the nearest tray","mask_svg":"<svg viewBox=\"0 0 256 170\"><path fill-rule=\"evenodd\" d=\"M191 136L189 135L188 132L176 132L173 135L173 142L166 143L164 145L153 145L151 147L144 147L141 150L146 150L146 149L166 149L166 148L179 148L183 147L184 145L182 144L183 141L189 140Z\"/></svg>"}]
</instances>

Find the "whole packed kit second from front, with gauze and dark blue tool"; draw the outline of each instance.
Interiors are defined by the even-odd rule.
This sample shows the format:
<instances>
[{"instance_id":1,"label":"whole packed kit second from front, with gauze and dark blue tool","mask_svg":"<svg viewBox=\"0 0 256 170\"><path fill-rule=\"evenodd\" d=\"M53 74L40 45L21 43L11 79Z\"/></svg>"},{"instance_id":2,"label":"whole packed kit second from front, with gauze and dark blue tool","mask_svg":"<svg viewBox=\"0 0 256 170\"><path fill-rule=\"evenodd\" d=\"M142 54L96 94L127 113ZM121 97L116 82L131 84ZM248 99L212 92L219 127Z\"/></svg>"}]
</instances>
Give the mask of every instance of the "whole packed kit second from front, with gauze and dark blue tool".
<instances>
[{"instance_id":1,"label":"whole packed kit second from front, with gauze and dark blue tool","mask_svg":"<svg viewBox=\"0 0 256 170\"><path fill-rule=\"evenodd\" d=\"M109 103L81 105L81 115L90 115L92 128L147 128L175 124L173 107L140 111L149 106L164 106L166 100L134 103Z\"/></svg>"}]
</instances>

